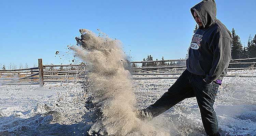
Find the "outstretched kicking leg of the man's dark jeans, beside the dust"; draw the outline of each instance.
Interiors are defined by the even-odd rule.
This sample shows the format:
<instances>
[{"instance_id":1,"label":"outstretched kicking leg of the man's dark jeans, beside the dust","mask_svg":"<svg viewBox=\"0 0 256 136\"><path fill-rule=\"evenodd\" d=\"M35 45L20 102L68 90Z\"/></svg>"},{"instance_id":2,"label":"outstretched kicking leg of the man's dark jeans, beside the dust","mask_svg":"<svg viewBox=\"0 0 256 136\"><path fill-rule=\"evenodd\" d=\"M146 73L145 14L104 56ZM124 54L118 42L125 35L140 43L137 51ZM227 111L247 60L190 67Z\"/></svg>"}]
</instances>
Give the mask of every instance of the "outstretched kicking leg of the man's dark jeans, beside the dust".
<instances>
[{"instance_id":1,"label":"outstretched kicking leg of the man's dark jeans, beside the dust","mask_svg":"<svg viewBox=\"0 0 256 136\"><path fill-rule=\"evenodd\" d=\"M160 115L186 98L195 97L194 91L189 83L190 77L191 73L188 70L183 71L168 91L147 108L152 113L152 117Z\"/></svg>"}]
</instances>

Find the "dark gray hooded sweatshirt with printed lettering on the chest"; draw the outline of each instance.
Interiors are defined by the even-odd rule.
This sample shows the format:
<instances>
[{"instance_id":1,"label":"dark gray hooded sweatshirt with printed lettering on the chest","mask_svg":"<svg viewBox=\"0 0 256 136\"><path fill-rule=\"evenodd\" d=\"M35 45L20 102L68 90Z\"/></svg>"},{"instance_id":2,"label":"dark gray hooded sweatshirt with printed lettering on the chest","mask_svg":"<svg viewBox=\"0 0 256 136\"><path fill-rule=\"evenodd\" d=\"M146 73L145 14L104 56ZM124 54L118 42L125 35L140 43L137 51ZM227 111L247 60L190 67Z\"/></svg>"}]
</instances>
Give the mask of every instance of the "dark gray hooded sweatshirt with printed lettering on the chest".
<instances>
[{"instance_id":1,"label":"dark gray hooded sweatshirt with printed lettering on the chest","mask_svg":"<svg viewBox=\"0 0 256 136\"><path fill-rule=\"evenodd\" d=\"M187 70L197 75L205 75L207 83L221 80L227 74L231 60L232 38L230 31L216 18L214 0L203 0L191 9L198 14L203 28L192 37L186 61ZM195 19L195 17L194 17Z\"/></svg>"}]
</instances>

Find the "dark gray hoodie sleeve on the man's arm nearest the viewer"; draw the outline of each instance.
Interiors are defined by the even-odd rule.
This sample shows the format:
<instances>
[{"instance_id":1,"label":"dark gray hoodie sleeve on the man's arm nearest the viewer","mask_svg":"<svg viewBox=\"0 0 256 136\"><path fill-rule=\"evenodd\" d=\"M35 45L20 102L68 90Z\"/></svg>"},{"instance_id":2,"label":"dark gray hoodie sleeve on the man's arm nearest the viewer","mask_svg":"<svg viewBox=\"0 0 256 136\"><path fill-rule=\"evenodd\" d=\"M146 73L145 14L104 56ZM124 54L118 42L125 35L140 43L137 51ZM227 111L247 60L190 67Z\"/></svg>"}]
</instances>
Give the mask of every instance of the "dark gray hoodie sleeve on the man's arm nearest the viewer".
<instances>
[{"instance_id":1,"label":"dark gray hoodie sleeve on the man's arm nearest the viewer","mask_svg":"<svg viewBox=\"0 0 256 136\"><path fill-rule=\"evenodd\" d=\"M209 49L213 53L212 68L204 79L207 83L215 81L228 67L231 60L231 40L223 37L221 32L215 33Z\"/></svg>"}]
</instances>

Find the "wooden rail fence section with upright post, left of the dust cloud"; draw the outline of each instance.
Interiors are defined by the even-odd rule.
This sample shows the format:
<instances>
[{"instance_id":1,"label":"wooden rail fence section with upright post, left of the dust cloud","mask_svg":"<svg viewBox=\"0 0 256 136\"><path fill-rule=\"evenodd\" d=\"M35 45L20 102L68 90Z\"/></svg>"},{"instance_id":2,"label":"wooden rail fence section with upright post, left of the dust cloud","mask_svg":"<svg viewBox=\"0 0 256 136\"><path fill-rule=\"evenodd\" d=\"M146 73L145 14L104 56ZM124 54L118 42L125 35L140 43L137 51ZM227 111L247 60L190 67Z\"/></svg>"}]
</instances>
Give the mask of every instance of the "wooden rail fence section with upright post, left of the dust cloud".
<instances>
[{"instance_id":1,"label":"wooden rail fence section with upright post, left of the dust cloud","mask_svg":"<svg viewBox=\"0 0 256 136\"><path fill-rule=\"evenodd\" d=\"M46 70L47 67L74 67L75 70ZM77 68L76 68L77 67ZM43 65L38 67L0 70L1 85L40 85L45 82L81 82L85 78L85 65ZM79 74L79 75L78 75Z\"/></svg>"}]
</instances>

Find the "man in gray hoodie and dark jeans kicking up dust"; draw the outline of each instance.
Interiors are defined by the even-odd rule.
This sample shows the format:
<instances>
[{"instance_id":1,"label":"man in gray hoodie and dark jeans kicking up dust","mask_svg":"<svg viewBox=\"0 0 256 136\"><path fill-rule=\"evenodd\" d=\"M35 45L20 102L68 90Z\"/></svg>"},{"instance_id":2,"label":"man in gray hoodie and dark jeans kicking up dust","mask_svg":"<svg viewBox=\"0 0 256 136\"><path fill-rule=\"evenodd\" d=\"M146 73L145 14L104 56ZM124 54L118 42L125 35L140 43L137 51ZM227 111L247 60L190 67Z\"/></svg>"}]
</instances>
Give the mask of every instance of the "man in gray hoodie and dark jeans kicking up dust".
<instances>
[{"instance_id":1,"label":"man in gray hoodie and dark jeans kicking up dust","mask_svg":"<svg viewBox=\"0 0 256 136\"><path fill-rule=\"evenodd\" d=\"M192 37L187 68L161 98L139 110L138 116L151 120L182 100L196 97L206 134L220 136L213 104L231 60L231 33L216 18L214 0L203 0L190 11L199 29Z\"/></svg>"}]
</instances>

